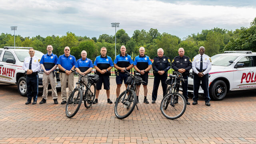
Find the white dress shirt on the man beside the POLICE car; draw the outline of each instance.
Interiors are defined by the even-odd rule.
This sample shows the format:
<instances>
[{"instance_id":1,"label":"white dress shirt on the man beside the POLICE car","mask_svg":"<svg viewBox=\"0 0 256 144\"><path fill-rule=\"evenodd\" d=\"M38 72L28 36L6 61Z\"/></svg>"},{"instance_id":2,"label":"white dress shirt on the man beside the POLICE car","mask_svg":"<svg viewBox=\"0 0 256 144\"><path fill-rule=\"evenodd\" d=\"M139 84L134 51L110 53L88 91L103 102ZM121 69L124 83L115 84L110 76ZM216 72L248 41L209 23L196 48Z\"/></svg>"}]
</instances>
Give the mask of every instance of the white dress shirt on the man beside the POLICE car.
<instances>
[{"instance_id":1,"label":"white dress shirt on the man beside the POLICE car","mask_svg":"<svg viewBox=\"0 0 256 144\"><path fill-rule=\"evenodd\" d=\"M205 70L203 74L207 74L212 69L212 63L211 63L212 61L210 57L207 56L206 54L203 54L202 58L203 58L203 70ZM196 55L192 60L192 70L196 74L199 73L197 69L200 69L200 61L201 61L200 54Z\"/></svg>"}]
</instances>

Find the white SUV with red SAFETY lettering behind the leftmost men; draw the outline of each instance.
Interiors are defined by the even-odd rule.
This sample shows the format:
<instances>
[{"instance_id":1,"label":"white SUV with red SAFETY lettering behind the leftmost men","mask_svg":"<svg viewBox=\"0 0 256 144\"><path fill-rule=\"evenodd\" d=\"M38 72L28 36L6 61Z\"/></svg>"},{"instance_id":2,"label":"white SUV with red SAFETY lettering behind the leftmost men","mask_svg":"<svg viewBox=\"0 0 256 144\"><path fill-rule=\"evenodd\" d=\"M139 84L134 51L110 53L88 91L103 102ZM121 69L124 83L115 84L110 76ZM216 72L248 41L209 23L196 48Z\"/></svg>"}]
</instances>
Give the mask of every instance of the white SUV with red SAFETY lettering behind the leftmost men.
<instances>
[{"instance_id":1,"label":"white SUV with red SAFETY lettering behind the leftmost men","mask_svg":"<svg viewBox=\"0 0 256 144\"><path fill-rule=\"evenodd\" d=\"M44 54L35 50L35 56L42 58ZM0 82L8 84L17 84L18 92L22 96L26 96L27 84L22 69L24 58L29 56L28 49L24 47L4 47L0 48ZM60 90L60 78L58 72L56 74L56 88ZM43 90L42 70L38 73L38 88ZM51 89L49 84L48 90Z\"/></svg>"}]
</instances>

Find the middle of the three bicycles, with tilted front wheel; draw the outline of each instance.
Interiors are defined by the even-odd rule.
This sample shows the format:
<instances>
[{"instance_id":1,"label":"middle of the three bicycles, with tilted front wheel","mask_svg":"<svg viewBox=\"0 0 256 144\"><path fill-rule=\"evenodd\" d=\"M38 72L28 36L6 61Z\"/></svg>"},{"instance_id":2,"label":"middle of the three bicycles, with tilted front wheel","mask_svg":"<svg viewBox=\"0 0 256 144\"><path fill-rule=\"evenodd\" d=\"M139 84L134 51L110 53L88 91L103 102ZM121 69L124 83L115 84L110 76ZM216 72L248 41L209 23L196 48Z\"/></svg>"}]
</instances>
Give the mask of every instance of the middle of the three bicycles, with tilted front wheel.
<instances>
[{"instance_id":1,"label":"middle of the three bicycles, with tilted front wheel","mask_svg":"<svg viewBox=\"0 0 256 144\"><path fill-rule=\"evenodd\" d=\"M130 72L124 70L128 75L130 75L127 78L126 84L128 85L126 90L122 92L117 100L116 104L114 106L115 115L119 119L123 119L128 117L132 111L134 110L135 106L137 107L137 87L140 85L142 80L139 73L135 73L134 75L130 74Z\"/></svg>"}]
</instances>

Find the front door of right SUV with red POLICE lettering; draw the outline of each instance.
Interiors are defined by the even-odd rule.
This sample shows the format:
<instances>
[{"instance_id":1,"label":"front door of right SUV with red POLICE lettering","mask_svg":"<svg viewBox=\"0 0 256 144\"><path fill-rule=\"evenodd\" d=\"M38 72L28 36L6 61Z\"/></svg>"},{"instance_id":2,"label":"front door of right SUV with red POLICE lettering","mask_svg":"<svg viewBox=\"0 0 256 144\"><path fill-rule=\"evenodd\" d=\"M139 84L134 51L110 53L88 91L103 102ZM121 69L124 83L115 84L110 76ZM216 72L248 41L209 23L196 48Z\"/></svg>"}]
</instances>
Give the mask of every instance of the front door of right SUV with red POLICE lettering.
<instances>
[{"instance_id":1,"label":"front door of right SUV with red POLICE lettering","mask_svg":"<svg viewBox=\"0 0 256 144\"><path fill-rule=\"evenodd\" d=\"M239 67L239 64L244 66ZM255 86L255 70L253 68L252 56L243 56L234 66L233 89L249 89Z\"/></svg>"}]
</instances>

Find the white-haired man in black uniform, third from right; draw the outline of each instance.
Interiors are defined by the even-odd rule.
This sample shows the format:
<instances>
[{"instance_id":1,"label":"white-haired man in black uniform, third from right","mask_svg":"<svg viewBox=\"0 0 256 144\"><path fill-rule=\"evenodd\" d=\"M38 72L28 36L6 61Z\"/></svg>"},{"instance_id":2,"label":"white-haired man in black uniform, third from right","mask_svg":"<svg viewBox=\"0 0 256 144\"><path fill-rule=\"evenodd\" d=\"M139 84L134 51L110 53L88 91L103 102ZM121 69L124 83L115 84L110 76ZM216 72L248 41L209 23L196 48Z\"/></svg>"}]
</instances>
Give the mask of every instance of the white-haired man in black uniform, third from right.
<instances>
[{"instance_id":1,"label":"white-haired man in black uniform, third from right","mask_svg":"<svg viewBox=\"0 0 256 144\"><path fill-rule=\"evenodd\" d=\"M157 55L158 56L154 57L153 64L152 64L152 67L154 70L154 76L155 76L154 86L152 91L152 104L156 102L160 80L161 80L162 89L163 89L163 96L165 95L165 91L166 91L165 81L167 80L168 70L170 69L170 59L167 56L164 56L164 50L162 48L158 48Z\"/></svg>"}]
</instances>

